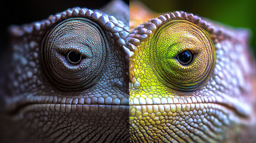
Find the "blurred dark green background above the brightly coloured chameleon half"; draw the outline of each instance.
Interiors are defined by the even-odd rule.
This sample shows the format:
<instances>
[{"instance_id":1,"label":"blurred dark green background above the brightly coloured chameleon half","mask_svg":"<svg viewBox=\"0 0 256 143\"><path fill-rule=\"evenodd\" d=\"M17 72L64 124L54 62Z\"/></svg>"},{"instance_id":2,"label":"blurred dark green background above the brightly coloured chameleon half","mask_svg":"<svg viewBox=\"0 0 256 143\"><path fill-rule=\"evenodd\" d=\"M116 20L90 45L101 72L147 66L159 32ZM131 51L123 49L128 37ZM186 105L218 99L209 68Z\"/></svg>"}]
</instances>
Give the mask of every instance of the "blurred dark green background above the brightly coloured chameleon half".
<instances>
[{"instance_id":1,"label":"blurred dark green background above the brightly coloured chameleon half","mask_svg":"<svg viewBox=\"0 0 256 143\"><path fill-rule=\"evenodd\" d=\"M131 0L132 1L132 0ZM206 17L232 27L245 27L251 30L251 46L256 55L256 1L254 0L140 0L150 10L158 13L185 11Z\"/></svg>"}]
</instances>

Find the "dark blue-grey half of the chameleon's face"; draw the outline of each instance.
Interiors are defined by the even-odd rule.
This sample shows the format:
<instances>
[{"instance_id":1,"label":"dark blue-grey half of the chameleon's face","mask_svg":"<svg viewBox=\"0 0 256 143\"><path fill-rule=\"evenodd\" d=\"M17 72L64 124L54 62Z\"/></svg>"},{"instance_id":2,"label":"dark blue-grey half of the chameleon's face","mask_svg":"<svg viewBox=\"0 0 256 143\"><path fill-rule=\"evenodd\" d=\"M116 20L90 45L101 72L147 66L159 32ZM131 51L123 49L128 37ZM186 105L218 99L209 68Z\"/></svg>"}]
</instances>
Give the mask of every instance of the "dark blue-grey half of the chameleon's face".
<instances>
[{"instance_id":1,"label":"dark blue-grey half of the chameleon's face","mask_svg":"<svg viewBox=\"0 0 256 143\"><path fill-rule=\"evenodd\" d=\"M128 10L113 1L10 27L0 142L129 141Z\"/></svg>"}]
</instances>

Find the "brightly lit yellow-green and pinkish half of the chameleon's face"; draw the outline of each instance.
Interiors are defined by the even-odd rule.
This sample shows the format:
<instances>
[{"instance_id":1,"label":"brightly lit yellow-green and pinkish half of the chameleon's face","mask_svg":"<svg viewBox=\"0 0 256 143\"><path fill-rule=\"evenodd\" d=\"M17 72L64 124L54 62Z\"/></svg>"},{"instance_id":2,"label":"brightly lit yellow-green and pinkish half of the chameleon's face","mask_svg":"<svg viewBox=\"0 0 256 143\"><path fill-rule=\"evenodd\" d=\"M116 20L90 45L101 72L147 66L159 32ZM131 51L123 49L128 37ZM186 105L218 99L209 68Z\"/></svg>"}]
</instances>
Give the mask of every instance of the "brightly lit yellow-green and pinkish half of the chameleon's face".
<instances>
[{"instance_id":1,"label":"brightly lit yellow-green and pinkish half of the chameleon's face","mask_svg":"<svg viewBox=\"0 0 256 143\"><path fill-rule=\"evenodd\" d=\"M130 4L130 142L255 142L249 32L143 7Z\"/></svg>"}]
</instances>

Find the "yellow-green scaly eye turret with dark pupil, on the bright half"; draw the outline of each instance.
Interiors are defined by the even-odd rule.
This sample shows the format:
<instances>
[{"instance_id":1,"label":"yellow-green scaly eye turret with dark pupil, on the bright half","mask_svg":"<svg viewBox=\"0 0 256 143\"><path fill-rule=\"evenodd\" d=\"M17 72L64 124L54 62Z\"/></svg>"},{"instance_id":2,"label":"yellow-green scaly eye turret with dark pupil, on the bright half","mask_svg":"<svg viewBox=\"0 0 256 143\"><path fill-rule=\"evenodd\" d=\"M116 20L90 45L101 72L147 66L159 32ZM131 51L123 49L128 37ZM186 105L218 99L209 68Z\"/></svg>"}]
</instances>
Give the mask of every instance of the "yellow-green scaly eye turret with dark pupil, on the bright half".
<instances>
[{"instance_id":1,"label":"yellow-green scaly eye turret with dark pupil, on the bright half","mask_svg":"<svg viewBox=\"0 0 256 143\"><path fill-rule=\"evenodd\" d=\"M208 35L187 20L163 24L149 41L150 64L158 79L177 91L195 91L208 77L214 47Z\"/></svg>"}]
</instances>

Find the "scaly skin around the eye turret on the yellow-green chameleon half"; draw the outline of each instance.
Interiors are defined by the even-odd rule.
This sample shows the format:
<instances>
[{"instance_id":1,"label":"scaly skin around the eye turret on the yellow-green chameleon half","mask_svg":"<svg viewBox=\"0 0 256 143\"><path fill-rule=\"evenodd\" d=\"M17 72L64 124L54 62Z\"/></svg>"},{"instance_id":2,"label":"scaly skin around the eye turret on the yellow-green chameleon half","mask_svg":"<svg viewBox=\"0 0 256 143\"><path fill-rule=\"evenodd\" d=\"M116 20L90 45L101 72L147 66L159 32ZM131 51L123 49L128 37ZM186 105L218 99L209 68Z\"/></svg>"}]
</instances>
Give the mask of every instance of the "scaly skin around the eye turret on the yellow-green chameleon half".
<instances>
[{"instance_id":1,"label":"scaly skin around the eye turret on the yellow-green chameleon half","mask_svg":"<svg viewBox=\"0 0 256 143\"><path fill-rule=\"evenodd\" d=\"M159 82L161 79L154 70L157 67L149 60L152 58L150 52L156 52L156 48L168 48L150 44L153 40L161 41L154 38L162 34L158 32L165 32L166 25L172 20L189 21L207 32L215 49L212 51L215 52L212 71L203 73L208 79L195 91L177 90ZM159 30L163 25L165 27ZM253 122L255 115L249 99L253 92L250 77L254 71L247 53L247 33L223 27L196 15L176 11L131 30L131 142L223 142L235 136L230 134L236 132L230 130L239 130L240 125ZM206 54L211 51L206 50ZM154 57L155 62L165 60L156 58L163 57ZM199 73L195 71L194 74ZM180 78L176 74L174 77Z\"/></svg>"}]
</instances>

